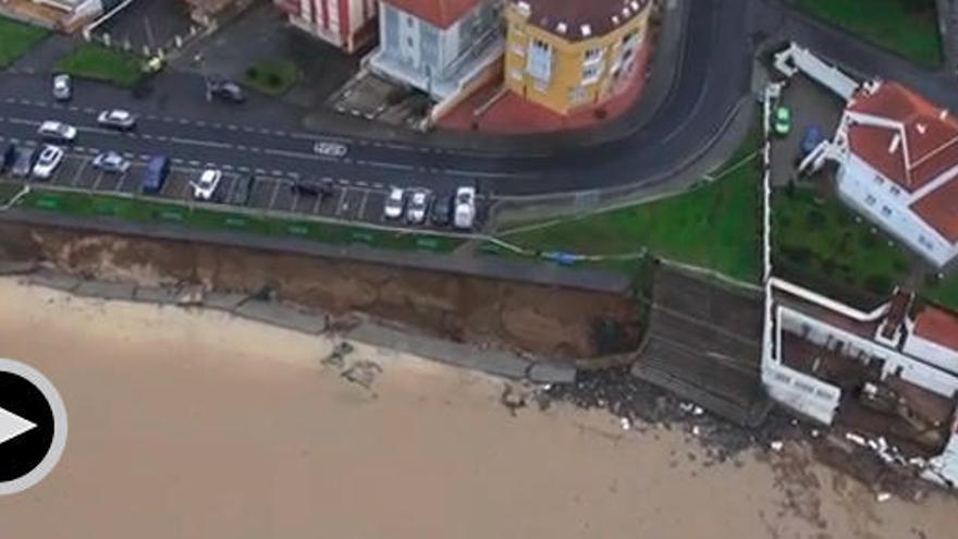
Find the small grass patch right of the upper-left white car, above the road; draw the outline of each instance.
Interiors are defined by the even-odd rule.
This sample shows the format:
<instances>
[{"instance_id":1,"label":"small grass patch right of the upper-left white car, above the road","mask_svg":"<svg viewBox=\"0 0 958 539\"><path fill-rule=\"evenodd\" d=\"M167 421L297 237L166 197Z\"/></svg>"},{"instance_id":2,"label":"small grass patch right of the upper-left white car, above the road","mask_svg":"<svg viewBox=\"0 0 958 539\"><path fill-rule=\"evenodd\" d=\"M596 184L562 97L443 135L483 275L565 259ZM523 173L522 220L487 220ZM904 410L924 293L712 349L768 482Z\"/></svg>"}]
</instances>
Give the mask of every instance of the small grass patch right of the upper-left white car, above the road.
<instances>
[{"instance_id":1,"label":"small grass patch right of the upper-left white car, above the road","mask_svg":"<svg viewBox=\"0 0 958 539\"><path fill-rule=\"evenodd\" d=\"M56 69L83 78L132 88L144 76L143 62L135 54L101 45L83 44L57 61Z\"/></svg>"}]
</instances>

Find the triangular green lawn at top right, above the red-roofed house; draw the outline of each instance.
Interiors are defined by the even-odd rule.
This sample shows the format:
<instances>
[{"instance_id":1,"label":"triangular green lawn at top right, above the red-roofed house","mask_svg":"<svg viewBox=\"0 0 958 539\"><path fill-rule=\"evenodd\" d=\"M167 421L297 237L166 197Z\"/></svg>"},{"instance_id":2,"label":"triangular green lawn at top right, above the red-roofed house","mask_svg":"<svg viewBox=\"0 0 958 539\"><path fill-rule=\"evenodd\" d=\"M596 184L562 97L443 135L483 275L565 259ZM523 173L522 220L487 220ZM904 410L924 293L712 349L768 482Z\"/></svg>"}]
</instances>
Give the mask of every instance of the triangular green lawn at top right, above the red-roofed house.
<instances>
[{"instance_id":1,"label":"triangular green lawn at top right, above the red-roofed house","mask_svg":"<svg viewBox=\"0 0 958 539\"><path fill-rule=\"evenodd\" d=\"M942 65L935 0L790 0L831 24L930 68Z\"/></svg>"}]
</instances>

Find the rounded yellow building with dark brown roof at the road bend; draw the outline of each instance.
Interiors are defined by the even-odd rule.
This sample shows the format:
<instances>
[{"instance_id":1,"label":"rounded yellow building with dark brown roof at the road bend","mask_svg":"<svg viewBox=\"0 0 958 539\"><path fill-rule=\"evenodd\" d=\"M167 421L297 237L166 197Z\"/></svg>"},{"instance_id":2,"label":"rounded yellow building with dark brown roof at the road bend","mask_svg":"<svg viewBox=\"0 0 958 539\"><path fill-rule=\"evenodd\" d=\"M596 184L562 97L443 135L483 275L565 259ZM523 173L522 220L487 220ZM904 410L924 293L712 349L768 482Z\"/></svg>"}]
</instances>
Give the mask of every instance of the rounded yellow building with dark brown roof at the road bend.
<instances>
[{"instance_id":1,"label":"rounded yellow building with dark brown roof at the road bend","mask_svg":"<svg viewBox=\"0 0 958 539\"><path fill-rule=\"evenodd\" d=\"M561 114L625 89L652 0L509 0L506 87Z\"/></svg>"}]
</instances>

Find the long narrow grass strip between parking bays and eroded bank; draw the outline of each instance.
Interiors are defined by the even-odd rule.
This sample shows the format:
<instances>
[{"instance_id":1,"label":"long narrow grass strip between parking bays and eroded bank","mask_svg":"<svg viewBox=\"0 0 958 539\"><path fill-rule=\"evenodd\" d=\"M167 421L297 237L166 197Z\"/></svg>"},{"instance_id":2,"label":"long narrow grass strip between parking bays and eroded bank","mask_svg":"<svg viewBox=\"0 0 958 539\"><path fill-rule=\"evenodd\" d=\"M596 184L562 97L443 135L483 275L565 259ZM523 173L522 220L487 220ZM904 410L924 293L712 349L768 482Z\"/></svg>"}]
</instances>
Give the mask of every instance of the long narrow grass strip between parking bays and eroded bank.
<instances>
[{"instance_id":1,"label":"long narrow grass strip between parking bays and eroded bank","mask_svg":"<svg viewBox=\"0 0 958 539\"><path fill-rule=\"evenodd\" d=\"M0 184L0 187L4 187L4 184ZM139 223L182 224L210 231L292 236L334 245L363 244L385 249L449 253L463 243L457 237L396 233L84 193L35 189L20 201L20 207L84 218L111 217Z\"/></svg>"}]
</instances>

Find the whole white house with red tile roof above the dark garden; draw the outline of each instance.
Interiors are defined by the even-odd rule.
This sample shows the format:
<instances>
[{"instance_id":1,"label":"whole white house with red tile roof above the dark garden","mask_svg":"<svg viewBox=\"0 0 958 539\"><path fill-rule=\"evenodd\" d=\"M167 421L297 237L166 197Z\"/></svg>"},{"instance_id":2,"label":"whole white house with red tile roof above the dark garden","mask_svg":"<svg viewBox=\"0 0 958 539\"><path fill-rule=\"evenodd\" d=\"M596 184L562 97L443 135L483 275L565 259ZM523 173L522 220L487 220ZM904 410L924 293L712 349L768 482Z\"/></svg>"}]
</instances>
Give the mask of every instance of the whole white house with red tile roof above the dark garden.
<instances>
[{"instance_id":1,"label":"whole white house with red tile roof above the dark garden","mask_svg":"<svg viewBox=\"0 0 958 539\"><path fill-rule=\"evenodd\" d=\"M840 198L943 267L958 255L958 120L908 88L864 85L827 154Z\"/></svg>"}]
</instances>

